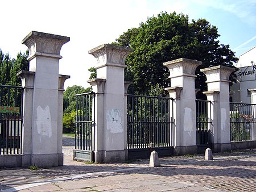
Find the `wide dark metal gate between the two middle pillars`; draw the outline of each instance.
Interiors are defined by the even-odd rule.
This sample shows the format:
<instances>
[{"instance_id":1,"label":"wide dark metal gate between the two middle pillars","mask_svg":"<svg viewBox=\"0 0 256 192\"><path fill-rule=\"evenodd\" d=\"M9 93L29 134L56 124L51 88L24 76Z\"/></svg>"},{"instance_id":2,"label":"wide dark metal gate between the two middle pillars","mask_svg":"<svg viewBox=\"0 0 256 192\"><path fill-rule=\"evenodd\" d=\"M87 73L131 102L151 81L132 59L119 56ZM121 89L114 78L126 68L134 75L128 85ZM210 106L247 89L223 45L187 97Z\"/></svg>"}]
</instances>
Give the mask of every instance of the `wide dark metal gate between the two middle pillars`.
<instances>
[{"instance_id":1,"label":"wide dark metal gate between the two middle pillars","mask_svg":"<svg viewBox=\"0 0 256 192\"><path fill-rule=\"evenodd\" d=\"M128 158L174 154L174 119L171 98L127 95Z\"/></svg>"}]
</instances>

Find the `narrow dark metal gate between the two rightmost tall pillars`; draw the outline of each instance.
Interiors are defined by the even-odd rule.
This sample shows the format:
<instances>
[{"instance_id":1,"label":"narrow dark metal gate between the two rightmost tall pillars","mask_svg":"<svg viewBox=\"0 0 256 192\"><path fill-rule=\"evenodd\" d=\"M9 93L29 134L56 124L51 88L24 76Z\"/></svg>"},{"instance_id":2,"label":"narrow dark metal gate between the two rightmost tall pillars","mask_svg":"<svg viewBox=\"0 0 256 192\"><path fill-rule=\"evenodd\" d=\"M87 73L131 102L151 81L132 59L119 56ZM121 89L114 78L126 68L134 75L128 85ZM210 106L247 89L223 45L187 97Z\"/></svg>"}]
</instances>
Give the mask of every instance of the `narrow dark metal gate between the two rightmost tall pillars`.
<instances>
[{"instance_id":1,"label":"narrow dark metal gate between the two rightmost tall pillars","mask_svg":"<svg viewBox=\"0 0 256 192\"><path fill-rule=\"evenodd\" d=\"M212 145L212 119L210 101L196 100L196 143L197 152L202 153Z\"/></svg>"}]
</instances>

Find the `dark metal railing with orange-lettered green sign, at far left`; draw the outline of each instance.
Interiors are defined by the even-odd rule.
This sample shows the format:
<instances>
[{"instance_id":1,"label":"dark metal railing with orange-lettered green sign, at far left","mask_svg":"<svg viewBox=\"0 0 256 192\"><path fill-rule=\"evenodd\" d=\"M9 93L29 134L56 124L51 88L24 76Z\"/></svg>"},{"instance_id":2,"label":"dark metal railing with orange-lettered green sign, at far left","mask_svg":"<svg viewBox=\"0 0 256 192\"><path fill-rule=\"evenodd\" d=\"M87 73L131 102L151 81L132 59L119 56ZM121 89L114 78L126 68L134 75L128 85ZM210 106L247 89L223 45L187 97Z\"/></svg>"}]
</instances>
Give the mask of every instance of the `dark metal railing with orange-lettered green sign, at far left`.
<instances>
[{"instance_id":1,"label":"dark metal railing with orange-lettered green sign, at far left","mask_svg":"<svg viewBox=\"0 0 256 192\"><path fill-rule=\"evenodd\" d=\"M22 153L22 103L22 87L0 85L0 155Z\"/></svg>"}]
</instances>

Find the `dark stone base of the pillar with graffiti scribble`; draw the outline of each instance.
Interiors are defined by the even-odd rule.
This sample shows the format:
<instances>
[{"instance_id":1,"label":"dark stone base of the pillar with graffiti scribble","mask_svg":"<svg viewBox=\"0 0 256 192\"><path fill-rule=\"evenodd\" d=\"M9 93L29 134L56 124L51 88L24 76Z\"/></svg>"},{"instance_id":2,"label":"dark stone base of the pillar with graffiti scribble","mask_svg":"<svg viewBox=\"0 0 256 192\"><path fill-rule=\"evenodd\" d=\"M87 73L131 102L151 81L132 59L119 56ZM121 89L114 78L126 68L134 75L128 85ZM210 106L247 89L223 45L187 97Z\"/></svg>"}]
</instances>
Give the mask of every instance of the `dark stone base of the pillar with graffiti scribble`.
<instances>
[{"instance_id":1,"label":"dark stone base of the pillar with graffiti scribble","mask_svg":"<svg viewBox=\"0 0 256 192\"><path fill-rule=\"evenodd\" d=\"M124 162L128 158L128 151L94 151L95 162L114 163Z\"/></svg>"}]
</instances>

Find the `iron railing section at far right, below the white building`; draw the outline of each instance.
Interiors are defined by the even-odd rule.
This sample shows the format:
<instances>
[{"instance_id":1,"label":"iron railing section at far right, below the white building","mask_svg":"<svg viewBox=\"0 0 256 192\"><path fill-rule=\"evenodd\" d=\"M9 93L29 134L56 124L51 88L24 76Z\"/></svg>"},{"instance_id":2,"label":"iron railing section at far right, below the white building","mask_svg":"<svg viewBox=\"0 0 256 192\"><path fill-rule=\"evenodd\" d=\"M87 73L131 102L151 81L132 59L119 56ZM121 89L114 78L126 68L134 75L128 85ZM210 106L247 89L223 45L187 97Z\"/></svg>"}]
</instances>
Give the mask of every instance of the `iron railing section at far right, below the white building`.
<instances>
[{"instance_id":1,"label":"iron railing section at far right, below the white building","mask_svg":"<svg viewBox=\"0 0 256 192\"><path fill-rule=\"evenodd\" d=\"M256 140L256 105L230 103L230 141Z\"/></svg>"}]
</instances>

